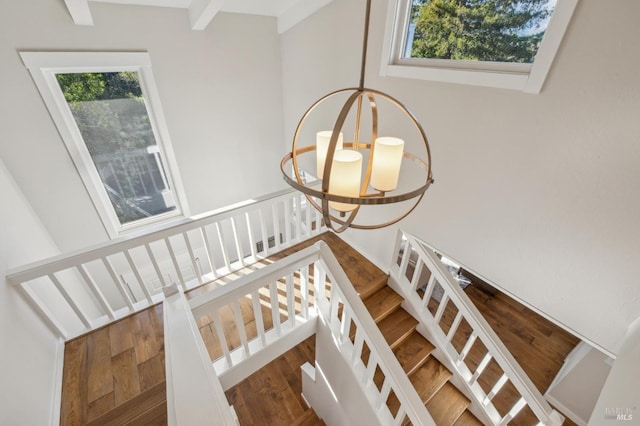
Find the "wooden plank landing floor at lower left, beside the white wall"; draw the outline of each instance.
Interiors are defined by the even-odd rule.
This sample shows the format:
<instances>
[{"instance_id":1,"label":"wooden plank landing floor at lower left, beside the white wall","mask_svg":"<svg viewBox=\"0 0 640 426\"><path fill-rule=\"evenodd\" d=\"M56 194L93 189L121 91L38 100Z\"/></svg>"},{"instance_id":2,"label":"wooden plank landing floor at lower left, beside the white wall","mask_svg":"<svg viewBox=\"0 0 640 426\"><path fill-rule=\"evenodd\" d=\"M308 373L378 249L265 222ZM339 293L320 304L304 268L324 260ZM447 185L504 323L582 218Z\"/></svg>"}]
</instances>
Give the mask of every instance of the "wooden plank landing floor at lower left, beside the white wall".
<instances>
[{"instance_id":1,"label":"wooden plank landing floor at lower left, beside the white wall","mask_svg":"<svg viewBox=\"0 0 640 426\"><path fill-rule=\"evenodd\" d=\"M107 327L67 342L62 377L61 425L117 424L107 414L126 402L158 398L150 422L166 423L162 305L156 305ZM123 408L127 408L128 404ZM157 404L158 405L158 404ZM133 413L140 413L133 407ZM159 412L159 413L158 413ZM103 417L107 416L107 417ZM149 423L147 423L149 424Z\"/></svg>"}]
</instances>

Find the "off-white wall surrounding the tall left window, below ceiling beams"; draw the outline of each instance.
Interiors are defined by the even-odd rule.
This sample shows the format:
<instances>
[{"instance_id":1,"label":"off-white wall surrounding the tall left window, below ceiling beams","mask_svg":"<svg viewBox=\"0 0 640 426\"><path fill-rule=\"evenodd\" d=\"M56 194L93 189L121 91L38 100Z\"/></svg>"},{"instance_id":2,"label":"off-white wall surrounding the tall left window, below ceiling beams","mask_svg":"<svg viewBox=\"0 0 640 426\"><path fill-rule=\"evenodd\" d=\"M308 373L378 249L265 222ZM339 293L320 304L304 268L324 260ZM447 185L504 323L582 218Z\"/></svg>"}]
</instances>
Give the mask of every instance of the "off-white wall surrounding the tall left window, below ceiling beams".
<instances>
[{"instance_id":1,"label":"off-white wall surrounding the tall left window, below ceiling beams","mask_svg":"<svg viewBox=\"0 0 640 426\"><path fill-rule=\"evenodd\" d=\"M20 50L149 51L192 214L282 187L274 18L221 13L192 31L184 9L90 7L93 27L74 25L63 1L0 6L0 158L61 250L107 234Z\"/></svg>"}]
</instances>

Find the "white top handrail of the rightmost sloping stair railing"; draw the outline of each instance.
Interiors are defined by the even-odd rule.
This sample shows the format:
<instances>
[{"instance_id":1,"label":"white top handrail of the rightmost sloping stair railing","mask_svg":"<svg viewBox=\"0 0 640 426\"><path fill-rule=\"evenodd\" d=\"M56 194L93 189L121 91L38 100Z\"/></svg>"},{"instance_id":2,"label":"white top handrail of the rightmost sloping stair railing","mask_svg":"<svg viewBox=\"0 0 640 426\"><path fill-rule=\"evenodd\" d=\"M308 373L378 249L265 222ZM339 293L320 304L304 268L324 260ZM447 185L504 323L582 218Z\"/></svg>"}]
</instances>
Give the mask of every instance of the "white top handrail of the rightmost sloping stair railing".
<instances>
[{"instance_id":1,"label":"white top handrail of the rightmost sloping stair railing","mask_svg":"<svg viewBox=\"0 0 640 426\"><path fill-rule=\"evenodd\" d=\"M491 354L500 368L502 368L503 372L508 376L518 392L520 392L520 395L525 399L538 419L542 420L544 424L560 424L561 416L559 413L553 410L549 403L547 403L529 376L524 372L522 367L520 367L513 355L511 355L507 347L502 343L502 340L500 340L495 331L493 331L471 300L464 294L463 290L452 282L451 274L435 255L434 251L430 248L425 249L424 243L415 236L403 231L399 231L399 233L403 234L407 240L407 245L404 250L415 250L418 258L425 263L438 283L443 287L446 286L445 294L454 303L458 311L464 314L464 319L471 326L477 338L482 341L488 353ZM399 249L399 247L397 247L397 249ZM408 253L406 257L408 257ZM400 268L400 270L402 271L402 268ZM442 307L442 304L440 307ZM456 363L456 360L451 361L454 364Z\"/></svg>"}]
</instances>

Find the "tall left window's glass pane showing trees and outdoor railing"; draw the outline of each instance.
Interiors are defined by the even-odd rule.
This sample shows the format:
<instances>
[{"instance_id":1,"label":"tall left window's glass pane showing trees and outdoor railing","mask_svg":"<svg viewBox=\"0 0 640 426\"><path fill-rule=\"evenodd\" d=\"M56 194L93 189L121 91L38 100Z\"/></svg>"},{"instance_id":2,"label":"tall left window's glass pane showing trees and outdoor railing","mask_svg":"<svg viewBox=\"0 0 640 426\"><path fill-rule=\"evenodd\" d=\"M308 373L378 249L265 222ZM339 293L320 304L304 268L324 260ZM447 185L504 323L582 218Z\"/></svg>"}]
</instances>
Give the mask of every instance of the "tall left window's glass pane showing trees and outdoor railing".
<instances>
[{"instance_id":1,"label":"tall left window's glass pane showing trees and outdoor railing","mask_svg":"<svg viewBox=\"0 0 640 426\"><path fill-rule=\"evenodd\" d=\"M56 77L120 223L175 210L138 74Z\"/></svg>"}]
</instances>

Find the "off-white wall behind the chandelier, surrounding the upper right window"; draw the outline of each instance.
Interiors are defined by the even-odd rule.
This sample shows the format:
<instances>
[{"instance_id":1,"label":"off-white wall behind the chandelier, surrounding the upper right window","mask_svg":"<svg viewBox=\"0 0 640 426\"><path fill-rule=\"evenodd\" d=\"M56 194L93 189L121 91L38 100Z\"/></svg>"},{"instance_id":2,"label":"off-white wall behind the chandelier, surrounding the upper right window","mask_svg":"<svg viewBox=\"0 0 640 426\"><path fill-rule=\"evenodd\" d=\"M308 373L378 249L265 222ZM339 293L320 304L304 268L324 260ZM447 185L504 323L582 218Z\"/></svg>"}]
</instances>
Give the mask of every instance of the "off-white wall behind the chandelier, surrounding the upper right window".
<instances>
[{"instance_id":1,"label":"off-white wall behind the chandelier, surrounding the upper right window","mask_svg":"<svg viewBox=\"0 0 640 426\"><path fill-rule=\"evenodd\" d=\"M580 1L539 95L379 77L386 10L373 2L366 85L421 121L436 180L400 226L615 353L640 314L640 3ZM336 1L282 35L286 138L357 84L363 17ZM394 229L347 235L390 261Z\"/></svg>"}]
</instances>

